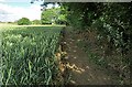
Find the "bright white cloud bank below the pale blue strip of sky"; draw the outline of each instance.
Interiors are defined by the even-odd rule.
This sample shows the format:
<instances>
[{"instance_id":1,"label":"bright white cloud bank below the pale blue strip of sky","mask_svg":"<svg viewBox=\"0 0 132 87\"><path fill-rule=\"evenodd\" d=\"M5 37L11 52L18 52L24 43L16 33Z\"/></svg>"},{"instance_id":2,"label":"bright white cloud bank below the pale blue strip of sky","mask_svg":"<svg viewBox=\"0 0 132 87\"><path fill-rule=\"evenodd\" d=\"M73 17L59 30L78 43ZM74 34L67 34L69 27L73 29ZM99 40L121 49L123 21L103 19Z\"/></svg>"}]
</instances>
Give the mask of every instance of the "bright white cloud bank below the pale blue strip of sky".
<instances>
[{"instance_id":1,"label":"bright white cloud bank below the pale blue strip of sky","mask_svg":"<svg viewBox=\"0 0 132 87\"><path fill-rule=\"evenodd\" d=\"M15 21L21 18L40 20L41 7L38 4L31 4L30 7L13 7L7 3L0 3L0 21Z\"/></svg>"}]
</instances>

